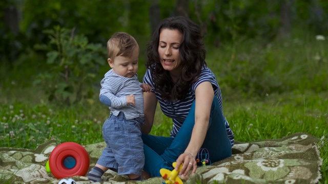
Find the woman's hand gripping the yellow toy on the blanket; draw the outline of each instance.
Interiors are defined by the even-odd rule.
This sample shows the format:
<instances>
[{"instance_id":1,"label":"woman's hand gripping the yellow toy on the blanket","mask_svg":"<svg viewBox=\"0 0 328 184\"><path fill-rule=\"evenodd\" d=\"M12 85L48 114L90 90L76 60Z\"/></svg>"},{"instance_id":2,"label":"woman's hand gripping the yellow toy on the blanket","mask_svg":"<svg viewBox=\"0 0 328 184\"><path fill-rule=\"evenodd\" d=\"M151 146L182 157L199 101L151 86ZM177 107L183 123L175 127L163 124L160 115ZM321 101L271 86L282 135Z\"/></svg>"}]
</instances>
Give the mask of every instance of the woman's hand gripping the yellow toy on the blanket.
<instances>
[{"instance_id":1,"label":"woman's hand gripping the yellow toy on the blanket","mask_svg":"<svg viewBox=\"0 0 328 184\"><path fill-rule=\"evenodd\" d=\"M196 169L197 169L196 164L197 163L196 163L196 160L195 160L195 156L191 152L186 151L185 153L180 154L180 156L176 160L175 170L178 170L179 166L181 164L183 164L183 165L182 165L182 168L179 172L179 175L187 176L187 174L189 173L191 168L193 168L192 174L194 174L196 172Z\"/></svg>"}]
</instances>

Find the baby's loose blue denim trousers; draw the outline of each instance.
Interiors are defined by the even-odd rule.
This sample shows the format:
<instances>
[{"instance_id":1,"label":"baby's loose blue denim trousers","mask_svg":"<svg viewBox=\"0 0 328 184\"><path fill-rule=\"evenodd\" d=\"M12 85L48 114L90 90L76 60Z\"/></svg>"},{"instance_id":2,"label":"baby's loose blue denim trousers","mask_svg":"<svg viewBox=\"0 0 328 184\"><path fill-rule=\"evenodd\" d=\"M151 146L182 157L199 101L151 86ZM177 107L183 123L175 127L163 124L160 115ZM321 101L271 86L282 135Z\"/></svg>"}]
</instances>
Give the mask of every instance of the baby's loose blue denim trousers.
<instances>
[{"instance_id":1,"label":"baby's loose blue denim trousers","mask_svg":"<svg viewBox=\"0 0 328 184\"><path fill-rule=\"evenodd\" d=\"M143 117L127 120L123 112L111 116L103 125L107 144L97 164L118 170L118 175L141 175L145 163L140 125Z\"/></svg>"}]
</instances>

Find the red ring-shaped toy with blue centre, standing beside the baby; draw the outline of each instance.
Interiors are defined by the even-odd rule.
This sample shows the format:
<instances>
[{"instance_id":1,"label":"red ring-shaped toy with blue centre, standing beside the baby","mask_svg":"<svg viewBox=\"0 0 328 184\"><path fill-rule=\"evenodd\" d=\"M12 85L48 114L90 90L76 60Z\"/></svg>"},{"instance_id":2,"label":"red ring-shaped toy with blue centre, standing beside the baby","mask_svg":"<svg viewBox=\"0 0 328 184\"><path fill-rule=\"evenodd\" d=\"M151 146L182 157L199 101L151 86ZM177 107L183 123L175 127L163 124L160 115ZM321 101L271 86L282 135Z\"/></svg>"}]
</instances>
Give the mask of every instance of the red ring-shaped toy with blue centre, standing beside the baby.
<instances>
[{"instance_id":1,"label":"red ring-shaped toy with blue centre, standing beside the baby","mask_svg":"<svg viewBox=\"0 0 328 184\"><path fill-rule=\"evenodd\" d=\"M70 176L85 176L90 166L87 150L73 142L65 142L56 146L50 153L46 170L57 179Z\"/></svg>"}]
</instances>

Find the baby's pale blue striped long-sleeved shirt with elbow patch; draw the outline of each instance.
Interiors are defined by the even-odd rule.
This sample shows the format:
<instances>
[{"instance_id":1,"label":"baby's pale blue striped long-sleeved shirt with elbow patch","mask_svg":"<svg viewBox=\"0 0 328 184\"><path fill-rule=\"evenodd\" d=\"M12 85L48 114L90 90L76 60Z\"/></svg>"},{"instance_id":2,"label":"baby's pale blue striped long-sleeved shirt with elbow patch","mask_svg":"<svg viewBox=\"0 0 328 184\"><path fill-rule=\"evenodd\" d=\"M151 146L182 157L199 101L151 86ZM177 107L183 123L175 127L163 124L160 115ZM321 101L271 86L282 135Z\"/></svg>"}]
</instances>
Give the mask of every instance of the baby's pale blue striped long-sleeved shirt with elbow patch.
<instances>
[{"instance_id":1,"label":"baby's pale blue striped long-sleeved shirt with elbow patch","mask_svg":"<svg viewBox=\"0 0 328 184\"><path fill-rule=\"evenodd\" d=\"M105 96L110 100L110 105L108 103L106 105L109 105L111 113L115 116L118 116L119 112L124 112L127 120L144 117L144 95L140 84L137 74L131 78L123 77L115 74L111 69L100 82L99 98ZM127 104L126 97L131 94L134 95L135 106Z\"/></svg>"}]
</instances>

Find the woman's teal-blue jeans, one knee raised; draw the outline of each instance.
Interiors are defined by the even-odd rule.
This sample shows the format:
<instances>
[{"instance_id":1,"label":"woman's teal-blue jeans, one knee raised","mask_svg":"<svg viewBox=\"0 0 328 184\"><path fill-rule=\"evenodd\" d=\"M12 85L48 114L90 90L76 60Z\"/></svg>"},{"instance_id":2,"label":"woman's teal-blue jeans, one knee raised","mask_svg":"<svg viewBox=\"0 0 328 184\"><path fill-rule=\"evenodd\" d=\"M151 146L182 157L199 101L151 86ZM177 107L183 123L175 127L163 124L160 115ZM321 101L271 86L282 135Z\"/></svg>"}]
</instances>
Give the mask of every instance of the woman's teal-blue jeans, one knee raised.
<instances>
[{"instance_id":1,"label":"woman's teal-blue jeans, one knee raised","mask_svg":"<svg viewBox=\"0 0 328 184\"><path fill-rule=\"evenodd\" d=\"M161 168L172 170L172 163L185 152L190 142L194 125L195 101L175 137L142 134L146 159L144 170L152 177L160 176ZM225 119L216 97L213 99L209 128L201 148L208 150L212 163L231 156L231 143L227 135Z\"/></svg>"}]
</instances>

